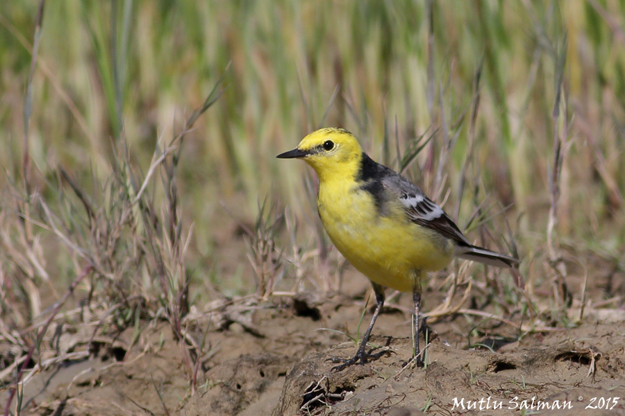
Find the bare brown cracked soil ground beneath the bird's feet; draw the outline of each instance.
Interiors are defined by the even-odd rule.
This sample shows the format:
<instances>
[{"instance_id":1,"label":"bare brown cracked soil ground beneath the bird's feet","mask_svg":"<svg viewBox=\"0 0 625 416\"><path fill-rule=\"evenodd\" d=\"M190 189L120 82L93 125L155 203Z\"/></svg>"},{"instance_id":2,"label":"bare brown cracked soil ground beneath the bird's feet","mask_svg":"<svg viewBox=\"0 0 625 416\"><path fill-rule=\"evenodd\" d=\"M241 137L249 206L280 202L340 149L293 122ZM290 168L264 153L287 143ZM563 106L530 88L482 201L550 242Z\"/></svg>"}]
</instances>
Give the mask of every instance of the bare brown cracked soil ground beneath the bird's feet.
<instances>
[{"instance_id":1,"label":"bare brown cracked soil ground beneath the bird's feet","mask_svg":"<svg viewBox=\"0 0 625 416\"><path fill-rule=\"evenodd\" d=\"M233 304L220 311L250 307ZM26 398L39 394L22 414L412 415L425 410L433 415L527 415L537 412L541 401L540 406L567 407L549 414L625 415L622 322L596 320L499 342L491 350L467 349L466 322L450 319L432 325L437 337L428 349L429 363L413 368L403 366L410 359L410 317L390 308L372 338L389 352L367 365L331 372L333 364L326 360L349 357L356 347L340 333L323 329L353 333L361 311L362 302L335 295L299 313L292 302L260 304L249 325L231 324L225 331L210 329L217 324L215 313L210 323L197 320L194 333L206 335L212 352L199 370L194 395L181 347L168 327L144 331L141 342L117 363L115 355L123 355L131 336L126 331L117 351L103 349L95 360L33 380Z\"/></svg>"}]
</instances>

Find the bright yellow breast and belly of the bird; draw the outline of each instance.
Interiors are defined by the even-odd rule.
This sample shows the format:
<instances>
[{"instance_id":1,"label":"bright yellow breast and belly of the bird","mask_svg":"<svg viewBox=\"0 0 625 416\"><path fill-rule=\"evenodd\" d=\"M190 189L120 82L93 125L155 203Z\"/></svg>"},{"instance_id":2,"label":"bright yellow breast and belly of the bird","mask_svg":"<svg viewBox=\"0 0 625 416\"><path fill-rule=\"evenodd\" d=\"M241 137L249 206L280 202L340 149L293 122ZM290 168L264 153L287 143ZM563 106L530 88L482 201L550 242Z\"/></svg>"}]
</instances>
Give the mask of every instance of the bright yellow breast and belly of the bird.
<instances>
[{"instance_id":1,"label":"bright yellow breast and belly of the bird","mask_svg":"<svg viewBox=\"0 0 625 416\"><path fill-rule=\"evenodd\" d=\"M379 216L367 191L322 186L317 207L336 248L382 286L411 292L421 272L440 270L453 257L453 243L412 223L399 201Z\"/></svg>"}]
</instances>

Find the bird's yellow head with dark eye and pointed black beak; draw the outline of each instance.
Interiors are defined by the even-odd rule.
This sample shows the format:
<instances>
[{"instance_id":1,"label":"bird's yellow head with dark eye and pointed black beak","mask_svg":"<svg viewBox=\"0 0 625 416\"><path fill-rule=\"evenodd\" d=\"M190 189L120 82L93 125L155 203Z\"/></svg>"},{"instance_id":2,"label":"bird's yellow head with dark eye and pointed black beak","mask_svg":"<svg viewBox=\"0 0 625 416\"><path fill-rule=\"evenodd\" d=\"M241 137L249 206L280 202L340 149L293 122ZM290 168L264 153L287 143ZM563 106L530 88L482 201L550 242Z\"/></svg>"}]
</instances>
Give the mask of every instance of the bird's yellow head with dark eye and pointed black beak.
<instances>
[{"instance_id":1,"label":"bird's yellow head with dark eye and pointed black beak","mask_svg":"<svg viewBox=\"0 0 625 416\"><path fill-rule=\"evenodd\" d=\"M356 175L363 149L356 137L342 128L322 128L304 137L297 148L281 153L280 159L303 159L313 166L319 180ZM338 176L337 176L338 175Z\"/></svg>"}]
</instances>

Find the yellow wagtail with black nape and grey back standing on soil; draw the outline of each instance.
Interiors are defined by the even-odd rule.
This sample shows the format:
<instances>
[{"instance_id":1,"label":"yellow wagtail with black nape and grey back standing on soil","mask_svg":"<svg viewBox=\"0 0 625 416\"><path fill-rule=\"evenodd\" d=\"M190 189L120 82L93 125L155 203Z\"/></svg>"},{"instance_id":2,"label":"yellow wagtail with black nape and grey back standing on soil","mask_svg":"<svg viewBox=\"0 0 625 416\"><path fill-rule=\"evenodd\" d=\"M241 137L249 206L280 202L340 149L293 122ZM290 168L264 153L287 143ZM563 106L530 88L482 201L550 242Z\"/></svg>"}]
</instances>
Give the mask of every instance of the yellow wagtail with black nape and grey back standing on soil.
<instances>
[{"instance_id":1,"label":"yellow wagtail with black nape and grey back standing on soil","mask_svg":"<svg viewBox=\"0 0 625 416\"><path fill-rule=\"evenodd\" d=\"M469 243L453 220L421 189L374 162L347 130L323 128L304 137L281 159L301 158L319 177L317 209L328 236L357 270L372 281L376 309L356 356L340 360L343 370L366 363L365 347L384 304L384 288L412 291L415 315L413 356L419 352L422 273L440 270L454 256L498 267L519 260Z\"/></svg>"}]
</instances>

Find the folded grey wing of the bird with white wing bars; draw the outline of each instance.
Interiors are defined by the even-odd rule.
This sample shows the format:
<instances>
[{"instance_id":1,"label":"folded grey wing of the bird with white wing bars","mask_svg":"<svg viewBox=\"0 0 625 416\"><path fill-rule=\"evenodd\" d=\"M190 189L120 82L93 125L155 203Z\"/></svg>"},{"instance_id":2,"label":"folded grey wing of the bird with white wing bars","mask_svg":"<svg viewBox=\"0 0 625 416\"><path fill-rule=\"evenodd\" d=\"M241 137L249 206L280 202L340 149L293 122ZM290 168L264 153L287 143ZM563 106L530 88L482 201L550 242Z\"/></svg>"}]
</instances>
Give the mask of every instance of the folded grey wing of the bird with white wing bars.
<instances>
[{"instance_id":1,"label":"folded grey wing of the bird with white wing bars","mask_svg":"<svg viewBox=\"0 0 625 416\"><path fill-rule=\"evenodd\" d=\"M414 223L431 228L460 245L471 245L442 208L405 177L395 173L385 177L382 182L385 189L399 198L408 218Z\"/></svg>"}]
</instances>

